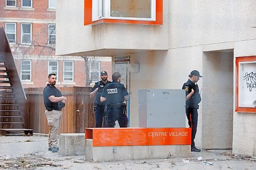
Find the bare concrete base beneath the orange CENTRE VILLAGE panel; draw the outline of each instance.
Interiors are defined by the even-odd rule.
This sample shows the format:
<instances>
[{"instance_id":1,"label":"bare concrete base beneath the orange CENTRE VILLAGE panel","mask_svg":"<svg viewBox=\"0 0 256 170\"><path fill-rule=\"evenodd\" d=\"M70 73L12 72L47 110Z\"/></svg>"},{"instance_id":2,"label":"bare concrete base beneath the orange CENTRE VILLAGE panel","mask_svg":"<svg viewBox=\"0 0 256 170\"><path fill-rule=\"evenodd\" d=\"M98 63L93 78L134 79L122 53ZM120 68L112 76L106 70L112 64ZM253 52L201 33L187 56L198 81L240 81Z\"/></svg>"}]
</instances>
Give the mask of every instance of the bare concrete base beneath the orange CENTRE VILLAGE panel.
<instances>
[{"instance_id":1,"label":"bare concrete base beneath the orange CENTRE VILLAGE panel","mask_svg":"<svg viewBox=\"0 0 256 170\"><path fill-rule=\"evenodd\" d=\"M120 161L134 159L159 159L168 157L187 157L190 145L140 145L93 147L93 140L86 139L86 161Z\"/></svg>"}]
</instances>

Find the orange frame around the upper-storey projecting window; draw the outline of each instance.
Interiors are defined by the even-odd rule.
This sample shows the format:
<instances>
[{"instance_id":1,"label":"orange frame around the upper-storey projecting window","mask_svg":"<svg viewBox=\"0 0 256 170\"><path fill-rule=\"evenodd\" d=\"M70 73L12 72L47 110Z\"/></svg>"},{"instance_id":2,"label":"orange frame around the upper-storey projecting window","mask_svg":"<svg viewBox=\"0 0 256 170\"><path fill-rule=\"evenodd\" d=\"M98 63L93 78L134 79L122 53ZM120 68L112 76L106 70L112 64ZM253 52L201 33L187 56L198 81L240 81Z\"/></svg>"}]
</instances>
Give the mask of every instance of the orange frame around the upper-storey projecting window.
<instances>
[{"instance_id":1,"label":"orange frame around the upper-storey projecting window","mask_svg":"<svg viewBox=\"0 0 256 170\"><path fill-rule=\"evenodd\" d=\"M84 0L84 26L94 23L131 23L141 25L163 25L163 0L156 0L156 21L102 18L92 21L92 1ZM87 16L87 17L86 17Z\"/></svg>"}]
</instances>

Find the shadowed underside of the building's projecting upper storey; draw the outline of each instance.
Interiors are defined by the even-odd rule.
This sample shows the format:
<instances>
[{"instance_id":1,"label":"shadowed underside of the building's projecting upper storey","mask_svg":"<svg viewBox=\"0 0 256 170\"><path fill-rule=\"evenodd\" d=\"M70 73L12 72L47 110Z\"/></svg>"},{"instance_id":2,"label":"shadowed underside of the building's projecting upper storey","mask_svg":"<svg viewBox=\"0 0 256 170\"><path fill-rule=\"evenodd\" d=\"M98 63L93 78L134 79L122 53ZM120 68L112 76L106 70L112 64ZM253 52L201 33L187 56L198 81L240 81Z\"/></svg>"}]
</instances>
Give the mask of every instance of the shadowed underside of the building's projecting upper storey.
<instances>
[{"instance_id":1,"label":"shadowed underside of the building's projecting upper storey","mask_svg":"<svg viewBox=\"0 0 256 170\"><path fill-rule=\"evenodd\" d=\"M98 57L114 57L114 56L125 56L135 53L149 53L156 51L167 51L168 49L161 50L145 50L145 49L99 49L71 54L62 54L65 56L98 56Z\"/></svg>"}]
</instances>

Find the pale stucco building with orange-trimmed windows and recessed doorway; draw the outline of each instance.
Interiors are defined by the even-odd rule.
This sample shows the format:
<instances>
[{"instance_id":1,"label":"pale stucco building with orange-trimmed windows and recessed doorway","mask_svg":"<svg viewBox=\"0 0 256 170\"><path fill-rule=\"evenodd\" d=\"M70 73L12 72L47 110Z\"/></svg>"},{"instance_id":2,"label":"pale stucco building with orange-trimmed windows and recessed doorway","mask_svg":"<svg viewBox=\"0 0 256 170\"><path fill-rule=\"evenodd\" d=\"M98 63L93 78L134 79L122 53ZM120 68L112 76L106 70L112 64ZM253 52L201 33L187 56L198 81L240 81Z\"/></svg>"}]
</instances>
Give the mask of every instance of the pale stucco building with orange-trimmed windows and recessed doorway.
<instances>
[{"instance_id":1,"label":"pale stucco building with orange-trimmed windows and recessed doorway","mask_svg":"<svg viewBox=\"0 0 256 170\"><path fill-rule=\"evenodd\" d=\"M180 89L199 70L197 147L255 155L256 1L125 2L57 0L56 54L112 56L131 95L130 127L138 89Z\"/></svg>"}]
</instances>

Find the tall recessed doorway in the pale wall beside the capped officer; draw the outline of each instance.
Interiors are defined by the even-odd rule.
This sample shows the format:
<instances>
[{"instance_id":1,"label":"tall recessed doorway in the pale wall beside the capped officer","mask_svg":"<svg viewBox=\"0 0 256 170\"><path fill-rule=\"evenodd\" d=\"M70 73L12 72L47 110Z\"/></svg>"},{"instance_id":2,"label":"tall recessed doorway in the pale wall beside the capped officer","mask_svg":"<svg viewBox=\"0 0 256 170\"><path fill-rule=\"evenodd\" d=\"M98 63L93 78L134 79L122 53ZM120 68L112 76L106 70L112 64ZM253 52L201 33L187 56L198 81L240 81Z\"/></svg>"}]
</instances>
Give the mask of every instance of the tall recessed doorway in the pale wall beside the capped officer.
<instances>
[{"instance_id":1,"label":"tall recessed doorway in the pale wall beside the capped officer","mask_svg":"<svg viewBox=\"0 0 256 170\"><path fill-rule=\"evenodd\" d=\"M231 149L233 50L203 53L202 148Z\"/></svg>"}]
</instances>

